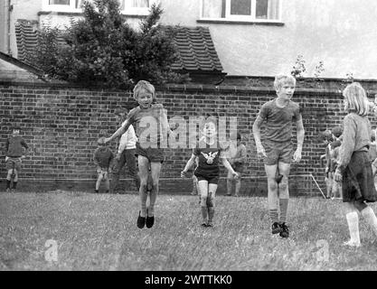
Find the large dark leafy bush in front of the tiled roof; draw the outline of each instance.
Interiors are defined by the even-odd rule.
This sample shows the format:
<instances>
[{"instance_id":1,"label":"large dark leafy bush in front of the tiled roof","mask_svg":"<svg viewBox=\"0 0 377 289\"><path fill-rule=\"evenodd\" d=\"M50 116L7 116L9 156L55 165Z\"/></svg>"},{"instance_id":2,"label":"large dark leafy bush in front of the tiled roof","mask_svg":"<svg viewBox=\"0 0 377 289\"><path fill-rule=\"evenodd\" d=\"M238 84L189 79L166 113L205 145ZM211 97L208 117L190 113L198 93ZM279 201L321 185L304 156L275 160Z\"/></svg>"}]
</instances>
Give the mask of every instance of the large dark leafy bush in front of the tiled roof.
<instances>
[{"instance_id":1,"label":"large dark leafy bush in front of the tiled roof","mask_svg":"<svg viewBox=\"0 0 377 289\"><path fill-rule=\"evenodd\" d=\"M177 55L174 35L165 34L158 23L161 14L161 7L153 5L136 31L120 14L118 0L86 1L83 19L64 32L42 29L33 64L53 79L111 87L139 79L182 82L187 76L170 69Z\"/></svg>"}]
</instances>

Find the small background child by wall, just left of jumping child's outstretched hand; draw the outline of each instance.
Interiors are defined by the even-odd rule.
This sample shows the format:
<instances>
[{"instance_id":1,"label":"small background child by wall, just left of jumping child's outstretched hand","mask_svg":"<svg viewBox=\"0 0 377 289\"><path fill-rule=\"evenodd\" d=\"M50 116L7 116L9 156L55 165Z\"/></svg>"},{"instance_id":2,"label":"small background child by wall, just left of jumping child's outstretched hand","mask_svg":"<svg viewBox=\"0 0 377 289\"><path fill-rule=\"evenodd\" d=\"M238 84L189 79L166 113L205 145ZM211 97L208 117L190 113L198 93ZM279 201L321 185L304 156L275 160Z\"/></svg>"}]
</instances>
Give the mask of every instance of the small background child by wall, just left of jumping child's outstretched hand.
<instances>
[{"instance_id":1,"label":"small background child by wall, just left of jumping child's outstretched hand","mask_svg":"<svg viewBox=\"0 0 377 289\"><path fill-rule=\"evenodd\" d=\"M96 163L98 173L95 192L99 193L100 183L105 181L106 192L108 193L110 190L108 173L111 172L110 163L114 159L114 154L108 145L105 144L105 137L99 137L98 144L99 147L94 152L94 163Z\"/></svg>"}]
</instances>

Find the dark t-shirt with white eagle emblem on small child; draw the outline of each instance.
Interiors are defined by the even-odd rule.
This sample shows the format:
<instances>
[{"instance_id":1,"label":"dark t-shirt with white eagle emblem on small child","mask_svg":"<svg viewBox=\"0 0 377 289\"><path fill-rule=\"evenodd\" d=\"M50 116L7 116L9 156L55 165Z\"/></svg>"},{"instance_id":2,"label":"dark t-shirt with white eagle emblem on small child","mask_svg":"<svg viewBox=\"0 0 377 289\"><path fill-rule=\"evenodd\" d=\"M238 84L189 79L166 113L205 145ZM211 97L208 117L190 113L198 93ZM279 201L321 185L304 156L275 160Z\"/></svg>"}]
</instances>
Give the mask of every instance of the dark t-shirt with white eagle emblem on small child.
<instances>
[{"instance_id":1,"label":"dark t-shirt with white eagle emblem on small child","mask_svg":"<svg viewBox=\"0 0 377 289\"><path fill-rule=\"evenodd\" d=\"M199 141L193 148L193 154L198 156L199 165L195 169L195 175L207 177L217 177L220 174L219 159L224 157L224 149L221 144L206 144L203 140Z\"/></svg>"}]
</instances>

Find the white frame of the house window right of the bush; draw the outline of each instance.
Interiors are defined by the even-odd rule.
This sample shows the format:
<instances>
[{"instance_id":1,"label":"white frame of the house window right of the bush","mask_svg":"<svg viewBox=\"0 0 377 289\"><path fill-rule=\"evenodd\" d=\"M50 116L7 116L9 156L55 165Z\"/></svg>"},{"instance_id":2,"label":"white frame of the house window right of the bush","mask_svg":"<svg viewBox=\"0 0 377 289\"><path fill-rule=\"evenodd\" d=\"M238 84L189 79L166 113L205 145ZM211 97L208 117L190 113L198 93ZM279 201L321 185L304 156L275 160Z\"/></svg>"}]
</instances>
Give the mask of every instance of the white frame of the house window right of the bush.
<instances>
[{"instance_id":1,"label":"white frame of the house window right of the bush","mask_svg":"<svg viewBox=\"0 0 377 289\"><path fill-rule=\"evenodd\" d=\"M231 0L225 0L225 18L209 18L203 17L203 0L200 0L200 20L208 21L224 21L224 22L255 22L255 23L281 23L281 8L283 0L278 0L278 19L259 19L256 17L257 1L251 1L250 15L232 15Z\"/></svg>"}]
</instances>

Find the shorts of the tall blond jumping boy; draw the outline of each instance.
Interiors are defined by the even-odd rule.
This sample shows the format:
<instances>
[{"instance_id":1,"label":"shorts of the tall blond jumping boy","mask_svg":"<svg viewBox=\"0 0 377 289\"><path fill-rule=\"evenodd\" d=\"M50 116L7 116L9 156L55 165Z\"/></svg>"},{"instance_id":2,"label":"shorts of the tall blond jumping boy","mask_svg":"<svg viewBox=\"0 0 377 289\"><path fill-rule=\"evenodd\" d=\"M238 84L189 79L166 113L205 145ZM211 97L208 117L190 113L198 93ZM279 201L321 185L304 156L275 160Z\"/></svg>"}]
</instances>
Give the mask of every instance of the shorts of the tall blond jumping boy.
<instances>
[{"instance_id":1,"label":"shorts of the tall blond jumping boy","mask_svg":"<svg viewBox=\"0 0 377 289\"><path fill-rule=\"evenodd\" d=\"M264 159L266 165L281 163L291 163L293 156L293 144L291 142L278 143L266 141L264 149L267 157Z\"/></svg>"}]
</instances>

